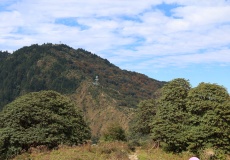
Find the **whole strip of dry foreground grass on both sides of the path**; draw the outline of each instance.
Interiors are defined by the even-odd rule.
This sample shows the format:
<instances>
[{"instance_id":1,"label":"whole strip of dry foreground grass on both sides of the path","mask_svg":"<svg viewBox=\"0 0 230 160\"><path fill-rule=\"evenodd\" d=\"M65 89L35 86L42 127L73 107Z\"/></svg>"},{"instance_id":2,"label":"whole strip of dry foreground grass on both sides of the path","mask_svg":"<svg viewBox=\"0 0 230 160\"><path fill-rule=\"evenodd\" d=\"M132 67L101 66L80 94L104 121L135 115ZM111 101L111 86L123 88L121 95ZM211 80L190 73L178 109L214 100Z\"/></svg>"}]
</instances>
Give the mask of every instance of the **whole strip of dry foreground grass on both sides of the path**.
<instances>
[{"instance_id":1,"label":"whole strip of dry foreground grass on both sides of the path","mask_svg":"<svg viewBox=\"0 0 230 160\"><path fill-rule=\"evenodd\" d=\"M30 152L18 155L13 160L129 160L131 152L127 143L103 142L98 145L59 146L56 150L33 148ZM138 160L188 160L194 156L191 153L182 154L166 153L162 149L151 147L136 148ZM206 160L203 159L202 160ZM230 157L227 157L230 160Z\"/></svg>"}]
</instances>

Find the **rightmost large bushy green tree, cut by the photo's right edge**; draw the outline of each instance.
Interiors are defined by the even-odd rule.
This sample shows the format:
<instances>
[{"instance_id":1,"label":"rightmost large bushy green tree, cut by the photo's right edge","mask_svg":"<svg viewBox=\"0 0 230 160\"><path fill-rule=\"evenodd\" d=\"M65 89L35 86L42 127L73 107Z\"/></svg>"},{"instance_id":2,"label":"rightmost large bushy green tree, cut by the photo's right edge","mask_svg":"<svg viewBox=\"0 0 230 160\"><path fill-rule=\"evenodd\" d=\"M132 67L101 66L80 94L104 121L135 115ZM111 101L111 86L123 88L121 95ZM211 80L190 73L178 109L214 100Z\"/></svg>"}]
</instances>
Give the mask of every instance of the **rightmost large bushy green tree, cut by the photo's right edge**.
<instances>
[{"instance_id":1,"label":"rightmost large bushy green tree, cut by the photo's right edge","mask_svg":"<svg viewBox=\"0 0 230 160\"><path fill-rule=\"evenodd\" d=\"M200 83L189 91L188 149L195 152L212 147L230 153L230 100L217 84Z\"/></svg>"}]
</instances>

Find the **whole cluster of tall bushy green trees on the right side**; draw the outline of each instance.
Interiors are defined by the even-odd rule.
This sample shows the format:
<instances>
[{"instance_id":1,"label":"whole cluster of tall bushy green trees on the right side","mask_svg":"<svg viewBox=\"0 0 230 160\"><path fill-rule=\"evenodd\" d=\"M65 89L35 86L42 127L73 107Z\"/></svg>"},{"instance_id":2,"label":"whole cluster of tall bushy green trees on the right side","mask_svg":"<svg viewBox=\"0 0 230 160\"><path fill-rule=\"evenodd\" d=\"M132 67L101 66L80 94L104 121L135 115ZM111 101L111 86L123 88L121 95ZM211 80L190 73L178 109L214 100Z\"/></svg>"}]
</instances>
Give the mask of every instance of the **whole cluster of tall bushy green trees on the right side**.
<instances>
[{"instance_id":1,"label":"whole cluster of tall bushy green trees on the right side","mask_svg":"<svg viewBox=\"0 0 230 160\"><path fill-rule=\"evenodd\" d=\"M202 82L191 88L188 80L174 79L158 92L157 99L139 103L131 132L148 135L174 153L199 154L211 148L216 156L229 154L229 93L217 84Z\"/></svg>"}]
</instances>

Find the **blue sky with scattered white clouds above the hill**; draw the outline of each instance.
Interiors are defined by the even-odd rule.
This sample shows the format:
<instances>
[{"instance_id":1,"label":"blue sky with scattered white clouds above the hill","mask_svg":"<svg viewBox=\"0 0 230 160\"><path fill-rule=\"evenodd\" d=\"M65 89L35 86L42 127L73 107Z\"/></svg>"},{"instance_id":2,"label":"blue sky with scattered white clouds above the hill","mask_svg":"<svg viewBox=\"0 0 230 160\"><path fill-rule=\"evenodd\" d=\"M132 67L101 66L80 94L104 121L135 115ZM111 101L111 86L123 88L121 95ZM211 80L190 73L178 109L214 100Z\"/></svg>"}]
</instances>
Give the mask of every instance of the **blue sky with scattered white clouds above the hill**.
<instances>
[{"instance_id":1,"label":"blue sky with scattered white clouds above the hill","mask_svg":"<svg viewBox=\"0 0 230 160\"><path fill-rule=\"evenodd\" d=\"M44 43L230 92L230 0L0 0L0 50Z\"/></svg>"}]
</instances>

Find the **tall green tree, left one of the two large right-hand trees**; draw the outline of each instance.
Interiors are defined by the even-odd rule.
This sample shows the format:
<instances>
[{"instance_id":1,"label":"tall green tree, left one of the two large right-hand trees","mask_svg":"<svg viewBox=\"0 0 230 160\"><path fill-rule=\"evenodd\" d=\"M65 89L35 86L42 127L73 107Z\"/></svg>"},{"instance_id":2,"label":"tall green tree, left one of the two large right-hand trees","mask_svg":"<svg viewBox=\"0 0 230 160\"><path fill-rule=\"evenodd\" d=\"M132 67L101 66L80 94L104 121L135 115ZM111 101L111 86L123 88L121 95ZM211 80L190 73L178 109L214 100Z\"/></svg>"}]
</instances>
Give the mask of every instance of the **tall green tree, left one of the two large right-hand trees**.
<instances>
[{"instance_id":1,"label":"tall green tree, left one of the two large right-hand trees","mask_svg":"<svg viewBox=\"0 0 230 160\"><path fill-rule=\"evenodd\" d=\"M159 107L152 123L152 138L165 142L165 149L169 151L181 152L186 149L186 98L190 88L190 83L182 78L174 79L162 88Z\"/></svg>"}]
</instances>

